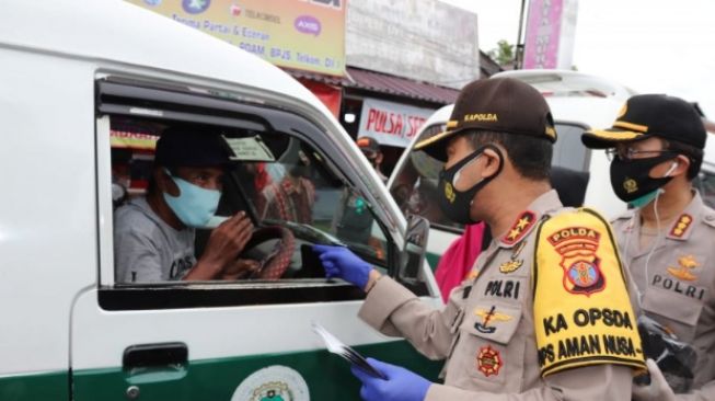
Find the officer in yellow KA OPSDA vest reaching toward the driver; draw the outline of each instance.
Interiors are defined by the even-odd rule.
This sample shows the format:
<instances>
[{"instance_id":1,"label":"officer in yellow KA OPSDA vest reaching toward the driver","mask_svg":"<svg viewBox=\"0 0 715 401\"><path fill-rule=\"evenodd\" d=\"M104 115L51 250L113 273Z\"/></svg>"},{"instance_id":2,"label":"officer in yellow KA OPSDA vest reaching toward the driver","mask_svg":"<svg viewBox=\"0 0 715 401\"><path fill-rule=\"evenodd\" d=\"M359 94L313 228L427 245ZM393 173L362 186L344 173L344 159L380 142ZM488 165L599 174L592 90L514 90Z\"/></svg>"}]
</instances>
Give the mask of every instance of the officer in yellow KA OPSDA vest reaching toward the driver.
<instances>
[{"instance_id":1,"label":"officer in yellow KA OPSDA vest reaching toward the driver","mask_svg":"<svg viewBox=\"0 0 715 401\"><path fill-rule=\"evenodd\" d=\"M365 400L628 400L645 369L610 226L566 209L549 183L556 133L541 94L520 81L474 81L447 131L417 144L446 161L440 204L494 233L443 309L423 303L347 249L315 245L328 276L367 291L359 316L446 359L443 383L376 359L357 368Z\"/></svg>"}]
</instances>

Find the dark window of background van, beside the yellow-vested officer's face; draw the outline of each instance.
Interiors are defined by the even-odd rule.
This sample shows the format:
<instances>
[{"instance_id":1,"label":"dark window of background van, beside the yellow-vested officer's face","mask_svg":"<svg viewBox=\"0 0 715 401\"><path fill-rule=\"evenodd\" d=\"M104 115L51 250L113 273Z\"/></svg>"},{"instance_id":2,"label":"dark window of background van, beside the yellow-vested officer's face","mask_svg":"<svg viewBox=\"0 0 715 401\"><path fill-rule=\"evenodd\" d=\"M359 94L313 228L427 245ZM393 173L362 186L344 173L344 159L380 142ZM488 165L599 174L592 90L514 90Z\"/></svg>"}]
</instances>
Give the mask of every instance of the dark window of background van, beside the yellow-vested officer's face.
<instances>
[{"instance_id":1,"label":"dark window of background van, beside the yellow-vested officer's face","mask_svg":"<svg viewBox=\"0 0 715 401\"><path fill-rule=\"evenodd\" d=\"M429 138L445 130L445 124L431 125L422 133L419 140ZM451 221L437 204L439 172L445 163L422 150L411 150L407 160L396 172L390 193L402 213L419 215L431 227L452 232L461 232L463 225Z\"/></svg>"}]
</instances>

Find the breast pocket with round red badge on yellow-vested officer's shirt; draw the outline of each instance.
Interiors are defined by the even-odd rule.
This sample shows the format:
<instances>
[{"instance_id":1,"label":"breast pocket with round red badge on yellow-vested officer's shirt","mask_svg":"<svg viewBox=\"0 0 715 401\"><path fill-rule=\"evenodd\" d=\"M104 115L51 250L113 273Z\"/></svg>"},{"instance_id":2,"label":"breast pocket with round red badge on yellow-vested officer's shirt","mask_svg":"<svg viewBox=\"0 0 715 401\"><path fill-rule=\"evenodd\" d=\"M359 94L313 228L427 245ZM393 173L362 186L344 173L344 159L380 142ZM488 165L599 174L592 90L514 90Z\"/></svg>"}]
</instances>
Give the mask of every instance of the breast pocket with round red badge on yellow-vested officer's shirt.
<instances>
[{"instance_id":1,"label":"breast pocket with round red badge on yellow-vested officer's shirt","mask_svg":"<svg viewBox=\"0 0 715 401\"><path fill-rule=\"evenodd\" d=\"M477 379L485 390L504 391L504 385L520 389L524 341L517 329L521 306L495 302L477 303L466 310L460 326L460 340L452 354L455 375Z\"/></svg>"}]
</instances>

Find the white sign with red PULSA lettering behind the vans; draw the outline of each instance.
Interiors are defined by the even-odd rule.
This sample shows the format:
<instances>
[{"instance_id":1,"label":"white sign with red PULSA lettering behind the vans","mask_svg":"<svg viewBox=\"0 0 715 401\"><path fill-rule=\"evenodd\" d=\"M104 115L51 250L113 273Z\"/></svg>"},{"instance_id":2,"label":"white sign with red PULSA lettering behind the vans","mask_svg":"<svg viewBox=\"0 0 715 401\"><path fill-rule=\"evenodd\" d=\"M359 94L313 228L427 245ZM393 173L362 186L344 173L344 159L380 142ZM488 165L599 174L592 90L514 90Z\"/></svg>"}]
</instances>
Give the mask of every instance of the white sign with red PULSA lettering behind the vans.
<instances>
[{"instance_id":1,"label":"white sign with red PULSA lettering behind the vans","mask_svg":"<svg viewBox=\"0 0 715 401\"><path fill-rule=\"evenodd\" d=\"M407 147L434 110L366 99L358 137L372 137L380 145Z\"/></svg>"}]
</instances>

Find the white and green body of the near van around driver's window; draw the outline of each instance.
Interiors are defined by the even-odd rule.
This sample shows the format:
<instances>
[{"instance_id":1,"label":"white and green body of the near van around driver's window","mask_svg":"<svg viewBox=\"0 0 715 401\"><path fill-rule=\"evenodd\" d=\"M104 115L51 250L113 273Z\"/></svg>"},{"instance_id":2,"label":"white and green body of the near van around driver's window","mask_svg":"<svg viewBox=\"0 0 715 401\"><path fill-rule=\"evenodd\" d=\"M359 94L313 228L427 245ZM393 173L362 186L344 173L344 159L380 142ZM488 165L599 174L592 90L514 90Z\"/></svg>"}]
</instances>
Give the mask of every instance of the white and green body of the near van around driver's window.
<instances>
[{"instance_id":1,"label":"white and green body of the near van around driver's window","mask_svg":"<svg viewBox=\"0 0 715 401\"><path fill-rule=\"evenodd\" d=\"M304 118L320 131L311 144L330 148L335 169L369 200L391 252L403 247L406 220L396 204L354 140L299 82L254 55L119 0L13 2L0 13L0 59L2 400L126 400L135 385L142 400L230 399L249 375L272 365L293 367L313 399L357 400L357 380L347 364L328 356L311 320L367 355L436 379L440 364L362 323L359 300L102 307L103 291L115 288L109 121L96 104L97 82L107 78L175 85ZM426 263L420 280L431 294L424 300L438 307ZM228 288L186 288L207 285ZM323 280L316 287L341 286ZM185 362L125 365L125 353L155 344L181 344Z\"/></svg>"}]
</instances>

